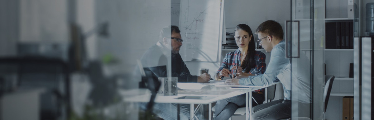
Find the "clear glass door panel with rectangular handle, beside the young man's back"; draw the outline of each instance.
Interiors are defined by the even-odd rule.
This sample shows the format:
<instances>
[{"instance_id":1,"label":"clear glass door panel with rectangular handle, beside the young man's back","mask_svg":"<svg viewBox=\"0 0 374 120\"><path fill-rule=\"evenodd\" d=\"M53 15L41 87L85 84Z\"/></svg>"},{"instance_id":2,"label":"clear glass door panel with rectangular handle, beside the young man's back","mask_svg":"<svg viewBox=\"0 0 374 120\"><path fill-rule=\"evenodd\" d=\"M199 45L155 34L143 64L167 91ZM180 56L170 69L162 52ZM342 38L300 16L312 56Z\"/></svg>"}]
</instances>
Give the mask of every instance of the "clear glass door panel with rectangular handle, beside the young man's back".
<instances>
[{"instance_id":1,"label":"clear glass door panel with rectangular handle, beside the young man's back","mask_svg":"<svg viewBox=\"0 0 374 120\"><path fill-rule=\"evenodd\" d=\"M285 23L286 57L291 62L292 120L324 119L325 3L291 0Z\"/></svg>"}]
</instances>

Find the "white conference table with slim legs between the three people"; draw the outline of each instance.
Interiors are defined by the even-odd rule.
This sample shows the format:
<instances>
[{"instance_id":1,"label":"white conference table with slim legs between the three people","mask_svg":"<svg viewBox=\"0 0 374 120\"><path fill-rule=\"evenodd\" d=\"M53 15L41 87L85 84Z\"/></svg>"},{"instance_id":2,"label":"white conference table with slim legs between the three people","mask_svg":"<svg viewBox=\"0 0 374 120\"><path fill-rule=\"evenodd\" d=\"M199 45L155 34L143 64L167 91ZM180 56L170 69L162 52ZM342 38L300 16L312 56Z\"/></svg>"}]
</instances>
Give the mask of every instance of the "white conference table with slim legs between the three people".
<instances>
[{"instance_id":1,"label":"white conference table with slim legs between the three people","mask_svg":"<svg viewBox=\"0 0 374 120\"><path fill-rule=\"evenodd\" d=\"M252 116L252 100L248 98L252 98L252 91L267 88L268 86L272 86L277 84L278 82L274 82L267 86L240 86L243 88L232 88L235 85L223 85L222 82L214 82L214 83L178 83L179 86L184 86L184 89L178 89L178 95L175 96L162 96L156 95L154 102L156 103L175 103L175 104L190 104L190 118L194 118L194 104L209 104L209 120L212 119L211 116L211 109L212 103L217 102L219 100L224 100L226 98L234 97L237 95L246 94L246 120L249 120ZM191 86L191 89L186 89L186 86ZM196 87L198 86L198 87ZM201 89L199 89L199 86ZM202 87L201 87L202 86ZM182 88L182 87L181 87ZM125 97L123 100L125 102L149 102L150 100L150 92L134 92L137 90L129 91L132 94L132 97ZM141 91L144 91L141 90ZM147 91L147 90L145 90ZM266 96L266 95L265 95ZM181 97L186 97L185 99L181 99ZM179 99L178 99L179 98ZM200 99L196 99L200 98ZM249 113L250 111L251 113Z\"/></svg>"}]
</instances>

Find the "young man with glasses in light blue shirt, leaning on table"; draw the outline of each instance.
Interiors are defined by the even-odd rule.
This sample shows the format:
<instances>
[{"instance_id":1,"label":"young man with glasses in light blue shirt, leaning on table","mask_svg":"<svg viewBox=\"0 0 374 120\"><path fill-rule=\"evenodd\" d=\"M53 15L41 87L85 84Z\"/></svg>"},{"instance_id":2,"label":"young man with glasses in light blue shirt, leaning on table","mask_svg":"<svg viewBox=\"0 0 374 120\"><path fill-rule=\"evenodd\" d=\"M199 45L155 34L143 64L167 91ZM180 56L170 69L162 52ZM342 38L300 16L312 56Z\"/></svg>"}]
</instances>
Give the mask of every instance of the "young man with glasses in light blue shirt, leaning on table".
<instances>
[{"instance_id":1,"label":"young man with glasses in light blue shirt, leaning on table","mask_svg":"<svg viewBox=\"0 0 374 120\"><path fill-rule=\"evenodd\" d=\"M300 53L298 60L286 58L285 40L283 40L282 26L273 20L267 20L258 26L256 32L258 42L266 52L271 52L270 62L263 75L249 76L242 79L227 79L225 82L233 85L266 86L278 77L283 85L284 99L272 101L254 107L252 119L279 120L291 118L292 101L300 108L308 108L310 103L310 62L305 54ZM292 65L291 65L292 64ZM291 74L292 73L292 74ZM292 80L292 99L291 99ZM297 108L297 107L296 107ZM301 117L301 116L299 116ZM309 116L302 116L309 117Z\"/></svg>"}]
</instances>

